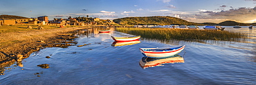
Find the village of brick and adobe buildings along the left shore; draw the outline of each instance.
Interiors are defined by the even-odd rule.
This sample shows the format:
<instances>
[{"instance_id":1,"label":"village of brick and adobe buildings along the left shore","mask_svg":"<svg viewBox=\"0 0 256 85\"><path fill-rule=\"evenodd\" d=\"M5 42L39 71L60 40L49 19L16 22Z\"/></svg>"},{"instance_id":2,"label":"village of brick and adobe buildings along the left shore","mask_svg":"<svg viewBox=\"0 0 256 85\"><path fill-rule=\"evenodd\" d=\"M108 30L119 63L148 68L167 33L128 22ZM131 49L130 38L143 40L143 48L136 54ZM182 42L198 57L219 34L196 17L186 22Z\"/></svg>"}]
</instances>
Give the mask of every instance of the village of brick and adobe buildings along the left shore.
<instances>
[{"instance_id":1,"label":"village of brick and adobe buildings along the left shore","mask_svg":"<svg viewBox=\"0 0 256 85\"><path fill-rule=\"evenodd\" d=\"M53 19L49 20L48 16L38 16L37 18L17 18L9 19L0 17L0 25L115 25L112 20L102 20L100 18L91 18L91 17L76 17L68 19Z\"/></svg>"}]
</instances>

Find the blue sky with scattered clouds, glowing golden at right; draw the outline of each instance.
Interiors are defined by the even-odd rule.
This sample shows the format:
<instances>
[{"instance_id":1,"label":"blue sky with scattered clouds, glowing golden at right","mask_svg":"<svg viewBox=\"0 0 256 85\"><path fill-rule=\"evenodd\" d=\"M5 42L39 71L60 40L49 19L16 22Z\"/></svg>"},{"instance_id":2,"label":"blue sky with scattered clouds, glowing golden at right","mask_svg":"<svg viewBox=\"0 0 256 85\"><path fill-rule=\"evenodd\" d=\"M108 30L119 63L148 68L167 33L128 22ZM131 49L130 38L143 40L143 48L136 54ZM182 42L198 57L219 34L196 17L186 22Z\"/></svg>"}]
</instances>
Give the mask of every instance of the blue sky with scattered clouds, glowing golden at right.
<instances>
[{"instance_id":1,"label":"blue sky with scattered clouds, glowing golden at right","mask_svg":"<svg viewBox=\"0 0 256 85\"><path fill-rule=\"evenodd\" d=\"M48 19L173 16L194 23L256 23L256 0L0 0L0 14Z\"/></svg>"}]
</instances>

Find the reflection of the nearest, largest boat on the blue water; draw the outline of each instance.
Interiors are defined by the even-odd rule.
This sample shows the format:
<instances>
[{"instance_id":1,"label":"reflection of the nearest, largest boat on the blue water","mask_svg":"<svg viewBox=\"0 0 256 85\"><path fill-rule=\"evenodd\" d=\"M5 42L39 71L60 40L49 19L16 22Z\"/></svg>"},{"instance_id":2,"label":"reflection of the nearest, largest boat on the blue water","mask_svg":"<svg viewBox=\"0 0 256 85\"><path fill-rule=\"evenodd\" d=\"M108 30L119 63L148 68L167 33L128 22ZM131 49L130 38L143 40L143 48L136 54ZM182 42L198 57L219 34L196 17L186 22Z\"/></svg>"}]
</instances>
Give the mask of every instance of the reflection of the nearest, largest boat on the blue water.
<instances>
[{"instance_id":1,"label":"reflection of the nearest, largest boat on the blue water","mask_svg":"<svg viewBox=\"0 0 256 85\"><path fill-rule=\"evenodd\" d=\"M176 54L175 56L169 57L169 58L147 58L143 57L140 60L140 66L143 69L154 67L154 66L163 66L163 64L169 64L169 63L184 63L184 58L182 56L179 56Z\"/></svg>"}]
</instances>

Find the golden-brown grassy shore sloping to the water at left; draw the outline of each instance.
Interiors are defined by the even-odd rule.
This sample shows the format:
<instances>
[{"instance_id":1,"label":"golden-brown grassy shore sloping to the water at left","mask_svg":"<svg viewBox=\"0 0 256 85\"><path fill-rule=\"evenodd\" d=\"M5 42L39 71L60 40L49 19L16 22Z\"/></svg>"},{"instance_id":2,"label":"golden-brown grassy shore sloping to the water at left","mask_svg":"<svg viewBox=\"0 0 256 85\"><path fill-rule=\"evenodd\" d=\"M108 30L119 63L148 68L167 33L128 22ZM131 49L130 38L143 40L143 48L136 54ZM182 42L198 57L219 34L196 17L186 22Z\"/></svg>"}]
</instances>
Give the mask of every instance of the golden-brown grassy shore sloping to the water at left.
<instances>
[{"instance_id":1,"label":"golden-brown grassy shore sloping to the water at left","mask_svg":"<svg viewBox=\"0 0 256 85\"><path fill-rule=\"evenodd\" d=\"M20 31L0 34L0 63L6 61L20 61L28 58L30 53L39 51L44 47L56 47L61 42L62 34L71 33L78 29L89 27L66 27L57 29L37 29L32 31ZM65 38L72 38L68 36ZM65 44L69 45L69 44Z\"/></svg>"}]
</instances>

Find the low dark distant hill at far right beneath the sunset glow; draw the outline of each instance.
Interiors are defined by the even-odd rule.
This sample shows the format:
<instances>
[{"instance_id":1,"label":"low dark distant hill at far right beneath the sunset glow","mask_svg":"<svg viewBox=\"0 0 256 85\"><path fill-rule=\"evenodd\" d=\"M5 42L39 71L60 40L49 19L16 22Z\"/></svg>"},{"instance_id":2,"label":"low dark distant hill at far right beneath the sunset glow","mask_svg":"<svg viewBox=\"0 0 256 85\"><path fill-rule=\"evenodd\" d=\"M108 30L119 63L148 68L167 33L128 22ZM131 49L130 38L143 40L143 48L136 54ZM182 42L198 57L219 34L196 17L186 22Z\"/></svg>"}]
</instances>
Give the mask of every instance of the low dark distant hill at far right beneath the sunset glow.
<instances>
[{"instance_id":1,"label":"low dark distant hill at far right beneath the sunset glow","mask_svg":"<svg viewBox=\"0 0 256 85\"><path fill-rule=\"evenodd\" d=\"M223 26L232 26L232 25L248 26L248 25L256 25L256 23L237 23L235 21L223 21L223 22L219 23L218 25L223 25Z\"/></svg>"}]
</instances>

